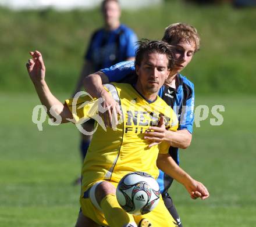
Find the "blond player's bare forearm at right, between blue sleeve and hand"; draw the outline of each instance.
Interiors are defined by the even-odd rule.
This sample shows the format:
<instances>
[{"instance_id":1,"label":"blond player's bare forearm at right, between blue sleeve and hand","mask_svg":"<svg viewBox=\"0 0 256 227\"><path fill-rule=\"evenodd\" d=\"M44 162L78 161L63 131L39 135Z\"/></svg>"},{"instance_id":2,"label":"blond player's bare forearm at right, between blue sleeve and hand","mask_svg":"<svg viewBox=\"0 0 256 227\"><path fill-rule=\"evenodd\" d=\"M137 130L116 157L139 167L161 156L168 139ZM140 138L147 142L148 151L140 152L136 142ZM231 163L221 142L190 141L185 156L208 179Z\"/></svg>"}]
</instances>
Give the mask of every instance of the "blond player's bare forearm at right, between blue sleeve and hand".
<instances>
[{"instance_id":1,"label":"blond player's bare forearm at right, between blue sleeve and hand","mask_svg":"<svg viewBox=\"0 0 256 227\"><path fill-rule=\"evenodd\" d=\"M178 147L181 149L186 149L190 146L192 135L187 129L182 129L178 131L167 131L166 132L166 142L172 147Z\"/></svg>"}]
</instances>

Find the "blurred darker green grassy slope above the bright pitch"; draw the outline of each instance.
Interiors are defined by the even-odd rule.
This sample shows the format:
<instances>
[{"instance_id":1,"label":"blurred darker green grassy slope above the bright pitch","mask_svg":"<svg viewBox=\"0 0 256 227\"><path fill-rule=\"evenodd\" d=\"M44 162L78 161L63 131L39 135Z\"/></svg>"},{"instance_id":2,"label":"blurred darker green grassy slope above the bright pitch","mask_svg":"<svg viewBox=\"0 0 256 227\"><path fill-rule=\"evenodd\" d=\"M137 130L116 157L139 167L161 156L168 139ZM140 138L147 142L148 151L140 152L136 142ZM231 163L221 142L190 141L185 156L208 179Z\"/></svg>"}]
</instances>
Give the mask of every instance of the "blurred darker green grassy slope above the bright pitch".
<instances>
[{"instance_id":1,"label":"blurred darker green grassy slope above the bright pitch","mask_svg":"<svg viewBox=\"0 0 256 227\"><path fill-rule=\"evenodd\" d=\"M90 35L102 25L98 10L0 8L0 92L34 92L25 63L29 51L38 49L52 91L70 95ZM173 0L154 8L123 10L121 21L139 38L148 39L161 39L172 23L193 25L200 34L201 48L182 73L194 82L197 94L256 94L255 9L237 10L230 4L198 7Z\"/></svg>"}]
</instances>

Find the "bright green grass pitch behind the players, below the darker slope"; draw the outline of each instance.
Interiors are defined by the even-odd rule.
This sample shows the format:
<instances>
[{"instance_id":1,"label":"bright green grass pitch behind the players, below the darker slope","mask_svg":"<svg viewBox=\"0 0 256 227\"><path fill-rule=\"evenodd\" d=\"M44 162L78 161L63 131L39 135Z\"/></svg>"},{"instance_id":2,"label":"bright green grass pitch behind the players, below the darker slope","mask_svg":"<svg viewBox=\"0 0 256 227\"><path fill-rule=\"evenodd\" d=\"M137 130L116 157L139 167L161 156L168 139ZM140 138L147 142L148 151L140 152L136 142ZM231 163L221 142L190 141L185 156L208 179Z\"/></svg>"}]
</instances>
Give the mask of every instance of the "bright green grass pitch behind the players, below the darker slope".
<instances>
[{"instance_id":1,"label":"bright green grass pitch behind the players, below the darker slope","mask_svg":"<svg viewBox=\"0 0 256 227\"><path fill-rule=\"evenodd\" d=\"M62 100L67 95L58 96ZM74 125L43 131L31 121L33 94L0 95L0 226L73 226L79 211L79 132ZM207 185L208 200L191 200L175 183L172 195L189 227L247 227L256 223L255 96L209 96L196 106L224 105L224 122L194 127L182 167Z\"/></svg>"}]
</instances>

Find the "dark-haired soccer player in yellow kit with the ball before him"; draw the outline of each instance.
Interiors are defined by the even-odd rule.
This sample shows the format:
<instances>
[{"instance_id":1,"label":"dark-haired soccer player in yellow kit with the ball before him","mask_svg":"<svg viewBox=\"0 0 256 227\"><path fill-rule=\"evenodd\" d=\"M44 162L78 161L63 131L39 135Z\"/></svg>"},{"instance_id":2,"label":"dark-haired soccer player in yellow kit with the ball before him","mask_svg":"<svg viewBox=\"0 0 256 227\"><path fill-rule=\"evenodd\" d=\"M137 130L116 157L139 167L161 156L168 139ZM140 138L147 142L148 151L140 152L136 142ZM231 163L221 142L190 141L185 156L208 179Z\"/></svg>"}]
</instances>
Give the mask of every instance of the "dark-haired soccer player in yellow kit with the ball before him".
<instances>
[{"instance_id":1,"label":"dark-haired soccer player in yellow kit with the ball before him","mask_svg":"<svg viewBox=\"0 0 256 227\"><path fill-rule=\"evenodd\" d=\"M45 67L41 53L35 51L30 54L33 59L27 63L27 69L38 96L48 110L55 106L55 113L51 111L49 116L61 116L62 122L67 122L68 118L78 121L87 116L86 106L79 109L79 106L73 106L71 100L66 100L63 105L52 95L44 80ZM124 175L132 171L148 172L157 178L160 168L182 183L192 198L206 199L209 196L202 183L191 178L172 160L165 143L148 147L149 143L143 140L144 132L150 125L177 129L175 114L157 96L172 66L169 46L162 41L140 42L135 64L138 80L134 86L109 84L105 87L120 103L122 123L106 131L98 127L93 135L83 165L80 196L82 212L76 226L177 226L162 199L153 211L145 215L133 216L120 208L115 195L116 186ZM71 111L73 107L75 113ZM145 222L146 219L148 222Z\"/></svg>"}]
</instances>

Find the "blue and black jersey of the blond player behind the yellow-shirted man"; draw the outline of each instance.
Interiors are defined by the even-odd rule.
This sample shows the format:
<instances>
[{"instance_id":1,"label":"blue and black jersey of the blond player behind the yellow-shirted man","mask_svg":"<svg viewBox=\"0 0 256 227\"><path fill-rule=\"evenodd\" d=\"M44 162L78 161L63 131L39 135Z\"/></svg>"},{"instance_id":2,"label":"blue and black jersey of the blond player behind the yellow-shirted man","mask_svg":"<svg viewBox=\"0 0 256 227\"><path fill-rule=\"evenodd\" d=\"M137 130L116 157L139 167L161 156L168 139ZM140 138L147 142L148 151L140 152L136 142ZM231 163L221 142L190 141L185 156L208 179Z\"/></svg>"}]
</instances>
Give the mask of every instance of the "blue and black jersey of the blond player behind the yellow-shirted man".
<instances>
[{"instance_id":1,"label":"blue and black jersey of the blond player behind the yellow-shirted man","mask_svg":"<svg viewBox=\"0 0 256 227\"><path fill-rule=\"evenodd\" d=\"M109 82L129 82L133 84L137 80L134 62L120 62L107 69L101 70L109 79ZM177 87L171 88L163 85L158 95L172 107L179 119L179 129L187 129L193 132L194 122L194 84L181 74L177 74ZM169 154L179 164L179 152L177 147L170 147ZM167 195L173 179L159 170L158 183L163 196Z\"/></svg>"}]
</instances>

